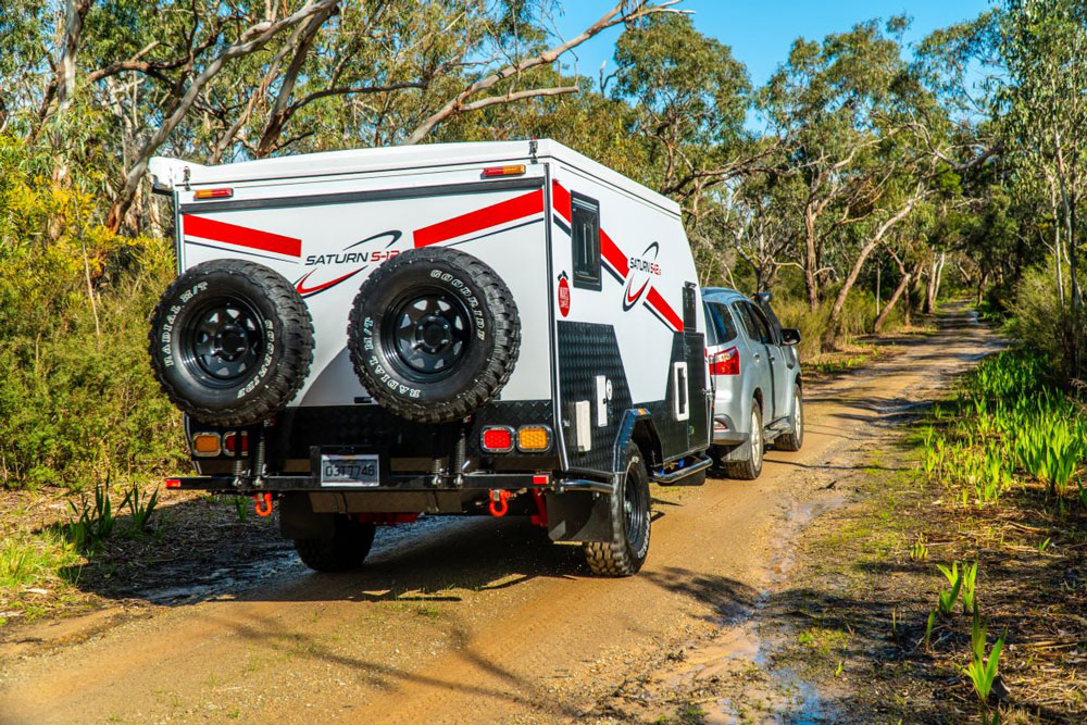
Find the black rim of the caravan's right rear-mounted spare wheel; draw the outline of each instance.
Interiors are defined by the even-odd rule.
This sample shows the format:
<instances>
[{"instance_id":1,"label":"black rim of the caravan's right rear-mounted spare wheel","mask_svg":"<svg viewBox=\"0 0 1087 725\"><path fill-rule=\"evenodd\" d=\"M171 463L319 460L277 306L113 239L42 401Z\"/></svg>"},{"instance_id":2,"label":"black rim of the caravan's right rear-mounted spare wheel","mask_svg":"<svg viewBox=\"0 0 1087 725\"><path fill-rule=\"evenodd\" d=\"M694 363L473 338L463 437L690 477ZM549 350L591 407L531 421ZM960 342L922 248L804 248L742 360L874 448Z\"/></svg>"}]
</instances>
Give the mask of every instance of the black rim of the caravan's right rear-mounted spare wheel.
<instances>
[{"instance_id":1,"label":"black rim of the caravan's right rear-mounted spare wheel","mask_svg":"<svg viewBox=\"0 0 1087 725\"><path fill-rule=\"evenodd\" d=\"M445 290L415 291L392 307L386 349L400 372L415 380L434 380L457 368L467 351L467 308Z\"/></svg>"}]
</instances>

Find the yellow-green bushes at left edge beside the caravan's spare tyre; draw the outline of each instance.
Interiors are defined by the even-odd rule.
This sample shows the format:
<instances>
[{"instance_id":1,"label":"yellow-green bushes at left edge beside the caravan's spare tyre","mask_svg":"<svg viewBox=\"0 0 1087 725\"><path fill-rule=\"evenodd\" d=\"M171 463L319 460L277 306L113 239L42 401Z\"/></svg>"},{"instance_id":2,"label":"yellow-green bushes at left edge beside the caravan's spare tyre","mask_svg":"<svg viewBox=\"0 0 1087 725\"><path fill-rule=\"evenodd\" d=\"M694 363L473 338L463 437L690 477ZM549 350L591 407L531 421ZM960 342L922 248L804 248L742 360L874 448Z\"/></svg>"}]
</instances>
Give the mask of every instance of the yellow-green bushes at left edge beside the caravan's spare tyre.
<instances>
[{"instance_id":1,"label":"yellow-green bushes at left edge beside the caravan's spare tyre","mask_svg":"<svg viewBox=\"0 0 1087 725\"><path fill-rule=\"evenodd\" d=\"M0 136L3 485L79 489L175 465L180 420L150 375L145 322L170 247L93 224L87 195L30 174L39 161Z\"/></svg>"}]
</instances>

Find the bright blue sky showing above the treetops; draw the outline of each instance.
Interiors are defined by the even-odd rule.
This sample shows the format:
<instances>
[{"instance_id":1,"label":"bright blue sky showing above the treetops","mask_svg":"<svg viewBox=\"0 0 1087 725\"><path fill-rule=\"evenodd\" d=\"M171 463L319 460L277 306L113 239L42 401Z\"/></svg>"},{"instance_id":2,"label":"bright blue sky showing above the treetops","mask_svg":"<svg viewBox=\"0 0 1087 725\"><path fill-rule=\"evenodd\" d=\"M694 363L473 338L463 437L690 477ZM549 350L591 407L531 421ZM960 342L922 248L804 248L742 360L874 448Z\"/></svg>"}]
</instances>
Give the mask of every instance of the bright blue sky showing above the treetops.
<instances>
[{"instance_id":1,"label":"bright blue sky showing above the treetops","mask_svg":"<svg viewBox=\"0 0 1087 725\"><path fill-rule=\"evenodd\" d=\"M563 37L572 37L604 14L614 0L560 0L555 17ZM913 18L908 42L921 40L929 32L976 16L989 7L988 0L685 0L678 7L694 10L695 26L703 34L730 46L733 55L748 67L755 86L762 85L785 60L792 40L803 36L821 40L830 33L848 29L872 17L905 14ZM605 74L614 70L612 52L620 27L611 28L576 50L577 71L597 78L601 62ZM574 59L564 57L564 64Z\"/></svg>"}]
</instances>

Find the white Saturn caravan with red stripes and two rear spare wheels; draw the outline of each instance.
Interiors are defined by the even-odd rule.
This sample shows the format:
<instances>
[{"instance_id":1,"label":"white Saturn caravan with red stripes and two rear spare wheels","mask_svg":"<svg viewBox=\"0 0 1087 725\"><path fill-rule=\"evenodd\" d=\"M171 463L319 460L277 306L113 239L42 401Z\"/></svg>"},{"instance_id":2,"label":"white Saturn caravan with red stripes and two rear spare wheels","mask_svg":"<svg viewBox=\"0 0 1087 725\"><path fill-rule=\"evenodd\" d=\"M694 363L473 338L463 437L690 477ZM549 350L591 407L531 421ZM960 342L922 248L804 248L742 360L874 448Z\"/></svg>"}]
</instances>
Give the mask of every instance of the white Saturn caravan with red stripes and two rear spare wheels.
<instances>
[{"instance_id":1,"label":"white Saturn caravan with red stripes and two rear spare wheels","mask_svg":"<svg viewBox=\"0 0 1087 725\"><path fill-rule=\"evenodd\" d=\"M710 459L705 322L679 208L550 140L201 166L154 159L178 278L152 366L199 474L278 500L302 560L376 525L521 514L638 571L649 483Z\"/></svg>"}]
</instances>

